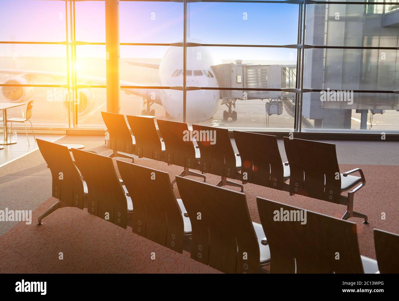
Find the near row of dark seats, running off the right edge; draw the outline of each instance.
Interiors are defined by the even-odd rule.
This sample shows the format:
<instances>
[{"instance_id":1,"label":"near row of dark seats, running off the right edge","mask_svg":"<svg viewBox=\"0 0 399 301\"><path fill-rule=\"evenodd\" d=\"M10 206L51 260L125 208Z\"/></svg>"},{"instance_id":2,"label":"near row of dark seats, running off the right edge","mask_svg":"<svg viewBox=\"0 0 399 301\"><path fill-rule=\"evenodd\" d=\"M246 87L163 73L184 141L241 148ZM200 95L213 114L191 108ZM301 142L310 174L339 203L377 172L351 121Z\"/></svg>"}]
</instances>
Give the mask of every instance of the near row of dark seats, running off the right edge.
<instances>
[{"instance_id":1,"label":"near row of dark seats, running off the right edge","mask_svg":"<svg viewBox=\"0 0 399 301\"><path fill-rule=\"evenodd\" d=\"M257 198L261 224L251 221L245 194L38 139L60 207L88 212L225 273L397 273L399 235L374 230L377 261L360 256L356 224ZM279 212L306 219L276 220ZM295 215L292 215L295 216ZM304 223L305 222L305 223ZM267 237L267 238L266 238Z\"/></svg>"}]
</instances>

